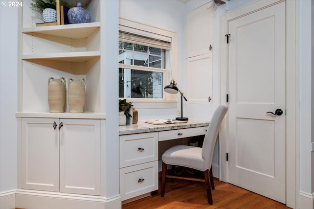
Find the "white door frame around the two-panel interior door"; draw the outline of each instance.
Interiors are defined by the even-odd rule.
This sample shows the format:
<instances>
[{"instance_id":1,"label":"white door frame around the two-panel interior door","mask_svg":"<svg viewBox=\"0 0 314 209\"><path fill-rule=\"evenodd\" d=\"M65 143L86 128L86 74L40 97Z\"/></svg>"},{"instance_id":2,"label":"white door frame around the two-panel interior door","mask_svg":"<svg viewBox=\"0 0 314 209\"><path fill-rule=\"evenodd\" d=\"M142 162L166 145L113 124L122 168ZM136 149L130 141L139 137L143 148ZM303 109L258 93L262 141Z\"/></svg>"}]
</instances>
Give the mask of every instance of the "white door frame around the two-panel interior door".
<instances>
[{"instance_id":1,"label":"white door frame around the two-panel interior door","mask_svg":"<svg viewBox=\"0 0 314 209\"><path fill-rule=\"evenodd\" d=\"M256 0L220 17L219 104L228 105L227 23L283 0ZM299 208L299 2L286 1L286 205ZM228 182L228 113L219 134L219 180Z\"/></svg>"}]
</instances>

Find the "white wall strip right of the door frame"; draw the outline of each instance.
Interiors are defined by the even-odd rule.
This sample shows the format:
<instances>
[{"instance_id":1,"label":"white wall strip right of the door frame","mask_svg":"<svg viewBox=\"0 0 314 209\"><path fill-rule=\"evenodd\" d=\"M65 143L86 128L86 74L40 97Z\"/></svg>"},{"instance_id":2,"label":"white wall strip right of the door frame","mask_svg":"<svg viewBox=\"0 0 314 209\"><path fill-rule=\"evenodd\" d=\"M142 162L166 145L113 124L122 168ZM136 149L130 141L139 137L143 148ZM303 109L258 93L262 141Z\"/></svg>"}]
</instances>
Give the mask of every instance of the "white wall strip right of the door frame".
<instances>
[{"instance_id":1,"label":"white wall strip right of the door frame","mask_svg":"<svg viewBox=\"0 0 314 209\"><path fill-rule=\"evenodd\" d=\"M313 3L300 0L300 193L312 196L314 192L314 91L313 91L313 37L311 34L311 8ZM311 5L312 4L312 5ZM311 48L312 46L312 48ZM311 91L312 90L312 91ZM312 206L313 208L313 206Z\"/></svg>"}]
</instances>

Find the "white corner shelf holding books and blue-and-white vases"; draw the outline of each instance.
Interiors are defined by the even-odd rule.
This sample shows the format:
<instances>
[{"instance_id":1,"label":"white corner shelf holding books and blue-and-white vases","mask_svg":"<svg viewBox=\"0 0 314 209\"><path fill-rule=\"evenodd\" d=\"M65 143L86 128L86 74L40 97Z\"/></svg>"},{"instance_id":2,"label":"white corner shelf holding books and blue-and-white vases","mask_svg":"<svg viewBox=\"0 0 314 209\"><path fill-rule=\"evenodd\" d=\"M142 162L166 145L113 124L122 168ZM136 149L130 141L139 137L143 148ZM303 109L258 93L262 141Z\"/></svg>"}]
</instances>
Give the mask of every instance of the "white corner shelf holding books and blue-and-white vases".
<instances>
[{"instance_id":1,"label":"white corner shelf holding books and blue-and-white vases","mask_svg":"<svg viewBox=\"0 0 314 209\"><path fill-rule=\"evenodd\" d=\"M95 30L100 28L100 22L96 23L79 23L79 24L62 24L41 27L27 27L22 29L22 33L47 34L72 39L85 39Z\"/></svg>"}]
</instances>

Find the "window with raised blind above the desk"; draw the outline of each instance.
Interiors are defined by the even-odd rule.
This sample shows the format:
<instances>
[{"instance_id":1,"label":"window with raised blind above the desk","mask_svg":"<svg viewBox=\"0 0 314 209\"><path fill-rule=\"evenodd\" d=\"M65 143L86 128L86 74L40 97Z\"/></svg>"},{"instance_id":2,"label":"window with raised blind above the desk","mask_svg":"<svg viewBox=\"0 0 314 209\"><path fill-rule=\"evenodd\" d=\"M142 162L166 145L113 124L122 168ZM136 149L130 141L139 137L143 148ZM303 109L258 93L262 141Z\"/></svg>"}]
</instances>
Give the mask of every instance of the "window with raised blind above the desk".
<instances>
[{"instance_id":1,"label":"window with raised blind above the desk","mask_svg":"<svg viewBox=\"0 0 314 209\"><path fill-rule=\"evenodd\" d=\"M162 99L170 42L119 32L119 97Z\"/></svg>"}]
</instances>

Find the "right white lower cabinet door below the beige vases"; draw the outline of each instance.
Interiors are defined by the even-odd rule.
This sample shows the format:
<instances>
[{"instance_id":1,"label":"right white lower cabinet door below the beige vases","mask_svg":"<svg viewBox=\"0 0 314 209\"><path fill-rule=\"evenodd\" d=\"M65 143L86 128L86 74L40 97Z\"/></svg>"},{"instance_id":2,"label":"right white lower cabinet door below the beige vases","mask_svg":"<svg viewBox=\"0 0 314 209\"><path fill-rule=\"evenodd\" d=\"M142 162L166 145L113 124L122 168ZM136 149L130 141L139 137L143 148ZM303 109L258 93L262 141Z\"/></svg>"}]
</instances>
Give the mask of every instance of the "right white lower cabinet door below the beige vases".
<instances>
[{"instance_id":1,"label":"right white lower cabinet door below the beige vases","mask_svg":"<svg viewBox=\"0 0 314 209\"><path fill-rule=\"evenodd\" d=\"M60 192L100 195L100 120L60 121Z\"/></svg>"}]
</instances>

